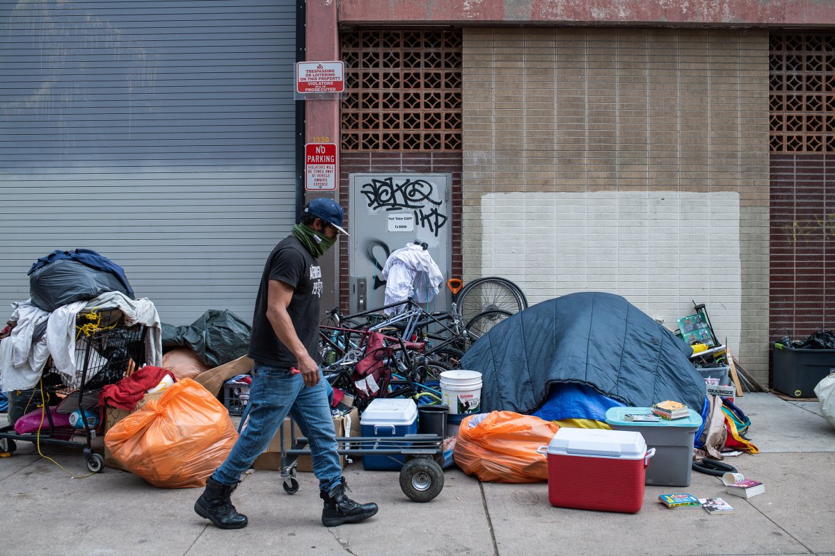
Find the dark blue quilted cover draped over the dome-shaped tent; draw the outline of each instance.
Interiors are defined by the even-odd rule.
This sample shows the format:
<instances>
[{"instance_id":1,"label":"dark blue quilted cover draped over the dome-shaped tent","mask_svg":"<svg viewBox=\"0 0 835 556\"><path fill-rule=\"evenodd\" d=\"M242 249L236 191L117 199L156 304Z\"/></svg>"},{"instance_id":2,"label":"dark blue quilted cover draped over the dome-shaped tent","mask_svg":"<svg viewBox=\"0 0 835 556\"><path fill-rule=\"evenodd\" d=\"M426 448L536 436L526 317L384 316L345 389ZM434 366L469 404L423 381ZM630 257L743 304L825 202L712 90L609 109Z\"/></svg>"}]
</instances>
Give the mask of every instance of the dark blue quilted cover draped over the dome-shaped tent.
<instances>
[{"instance_id":1,"label":"dark blue quilted cover draped over the dome-shaped tent","mask_svg":"<svg viewBox=\"0 0 835 556\"><path fill-rule=\"evenodd\" d=\"M473 344L461 365L482 373L483 412L534 413L552 385L574 383L630 407L673 399L701 413L705 381L691 353L625 298L582 292L504 319Z\"/></svg>"}]
</instances>

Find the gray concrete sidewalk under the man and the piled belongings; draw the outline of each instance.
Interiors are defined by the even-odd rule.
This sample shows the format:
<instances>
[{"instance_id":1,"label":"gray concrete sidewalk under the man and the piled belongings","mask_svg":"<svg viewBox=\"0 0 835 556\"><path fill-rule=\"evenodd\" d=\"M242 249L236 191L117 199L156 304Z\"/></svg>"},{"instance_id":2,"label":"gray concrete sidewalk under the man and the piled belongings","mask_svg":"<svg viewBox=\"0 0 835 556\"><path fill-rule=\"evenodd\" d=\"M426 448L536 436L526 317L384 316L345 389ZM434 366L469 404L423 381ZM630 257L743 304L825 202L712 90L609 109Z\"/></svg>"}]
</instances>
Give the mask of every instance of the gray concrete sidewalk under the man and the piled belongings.
<instances>
[{"instance_id":1,"label":"gray concrete sidewalk under the man and the piled belongings","mask_svg":"<svg viewBox=\"0 0 835 556\"><path fill-rule=\"evenodd\" d=\"M247 475L233 496L250 518L238 531L221 531L192 505L200 489L165 490L130 473L105 469L87 475L77 450L44 447L65 470L18 443L0 458L0 554L819 554L835 556L835 428L817 402L787 402L746 393L738 405L751 417L761 449L730 462L766 493L725 495L719 478L693 473L686 488L647 486L634 515L553 508L546 483L479 483L448 469L438 498L414 503L401 492L398 473L346 468L352 497L376 501L367 523L322 527L316 478L300 473L293 496L280 475ZM701 508L668 509L660 493L721 496L736 508L727 516Z\"/></svg>"}]
</instances>

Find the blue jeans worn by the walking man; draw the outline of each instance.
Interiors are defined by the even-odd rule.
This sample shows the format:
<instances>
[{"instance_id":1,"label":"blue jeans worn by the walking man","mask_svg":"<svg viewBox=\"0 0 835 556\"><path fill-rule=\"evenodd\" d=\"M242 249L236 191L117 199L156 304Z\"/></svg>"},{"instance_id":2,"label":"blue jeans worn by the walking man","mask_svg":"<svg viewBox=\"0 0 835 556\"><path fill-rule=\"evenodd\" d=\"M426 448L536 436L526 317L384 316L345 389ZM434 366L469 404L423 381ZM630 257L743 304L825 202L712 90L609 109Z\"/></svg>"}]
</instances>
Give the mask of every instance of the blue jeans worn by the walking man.
<instances>
[{"instance_id":1,"label":"blue jeans worn by the walking man","mask_svg":"<svg viewBox=\"0 0 835 556\"><path fill-rule=\"evenodd\" d=\"M256 363L252 368L250 400L245 413L249 421L212 478L218 483L237 483L240 475L252 467L275 438L290 413L311 447L313 473L319 479L319 488L329 491L342 478L337 433L328 401L332 395L331 384L324 378L320 378L316 386L305 388L301 373L291 374L289 368ZM290 439L286 441L289 443Z\"/></svg>"}]
</instances>

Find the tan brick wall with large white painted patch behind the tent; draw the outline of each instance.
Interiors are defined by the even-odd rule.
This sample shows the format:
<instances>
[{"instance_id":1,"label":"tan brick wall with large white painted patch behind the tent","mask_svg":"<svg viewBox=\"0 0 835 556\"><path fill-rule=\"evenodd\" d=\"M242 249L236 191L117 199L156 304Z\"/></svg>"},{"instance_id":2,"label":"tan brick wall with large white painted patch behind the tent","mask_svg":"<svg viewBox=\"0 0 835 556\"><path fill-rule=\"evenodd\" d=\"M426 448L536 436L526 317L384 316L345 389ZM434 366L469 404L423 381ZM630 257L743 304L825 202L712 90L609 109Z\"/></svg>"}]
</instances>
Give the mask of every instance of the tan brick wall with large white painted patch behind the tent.
<instances>
[{"instance_id":1,"label":"tan brick wall with large white painted patch behind the tent","mask_svg":"<svg viewBox=\"0 0 835 556\"><path fill-rule=\"evenodd\" d=\"M764 380L767 32L463 38L464 278L620 293L671 328L695 299Z\"/></svg>"}]
</instances>

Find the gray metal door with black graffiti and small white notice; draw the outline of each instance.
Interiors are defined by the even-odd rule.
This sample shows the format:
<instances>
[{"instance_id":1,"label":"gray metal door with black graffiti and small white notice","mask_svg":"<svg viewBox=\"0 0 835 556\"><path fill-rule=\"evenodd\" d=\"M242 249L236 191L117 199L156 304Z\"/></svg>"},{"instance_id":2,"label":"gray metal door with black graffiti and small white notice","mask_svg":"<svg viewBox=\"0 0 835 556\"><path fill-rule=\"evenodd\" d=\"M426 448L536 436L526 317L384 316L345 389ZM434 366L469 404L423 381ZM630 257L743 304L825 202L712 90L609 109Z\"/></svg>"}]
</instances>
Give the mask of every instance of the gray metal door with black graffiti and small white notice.
<instances>
[{"instance_id":1,"label":"gray metal door with black graffiti and small white notice","mask_svg":"<svg viewBox=\"0 0 835 556\"><path fill-rule=\"evenodd\" d=\"M449 189L443 173L351 174L351 311L381 307L388 255L415 241L426 243L444 278L452 268ZM442 283L430 310L447 309Z\"/></svg>"}]
</instances>

